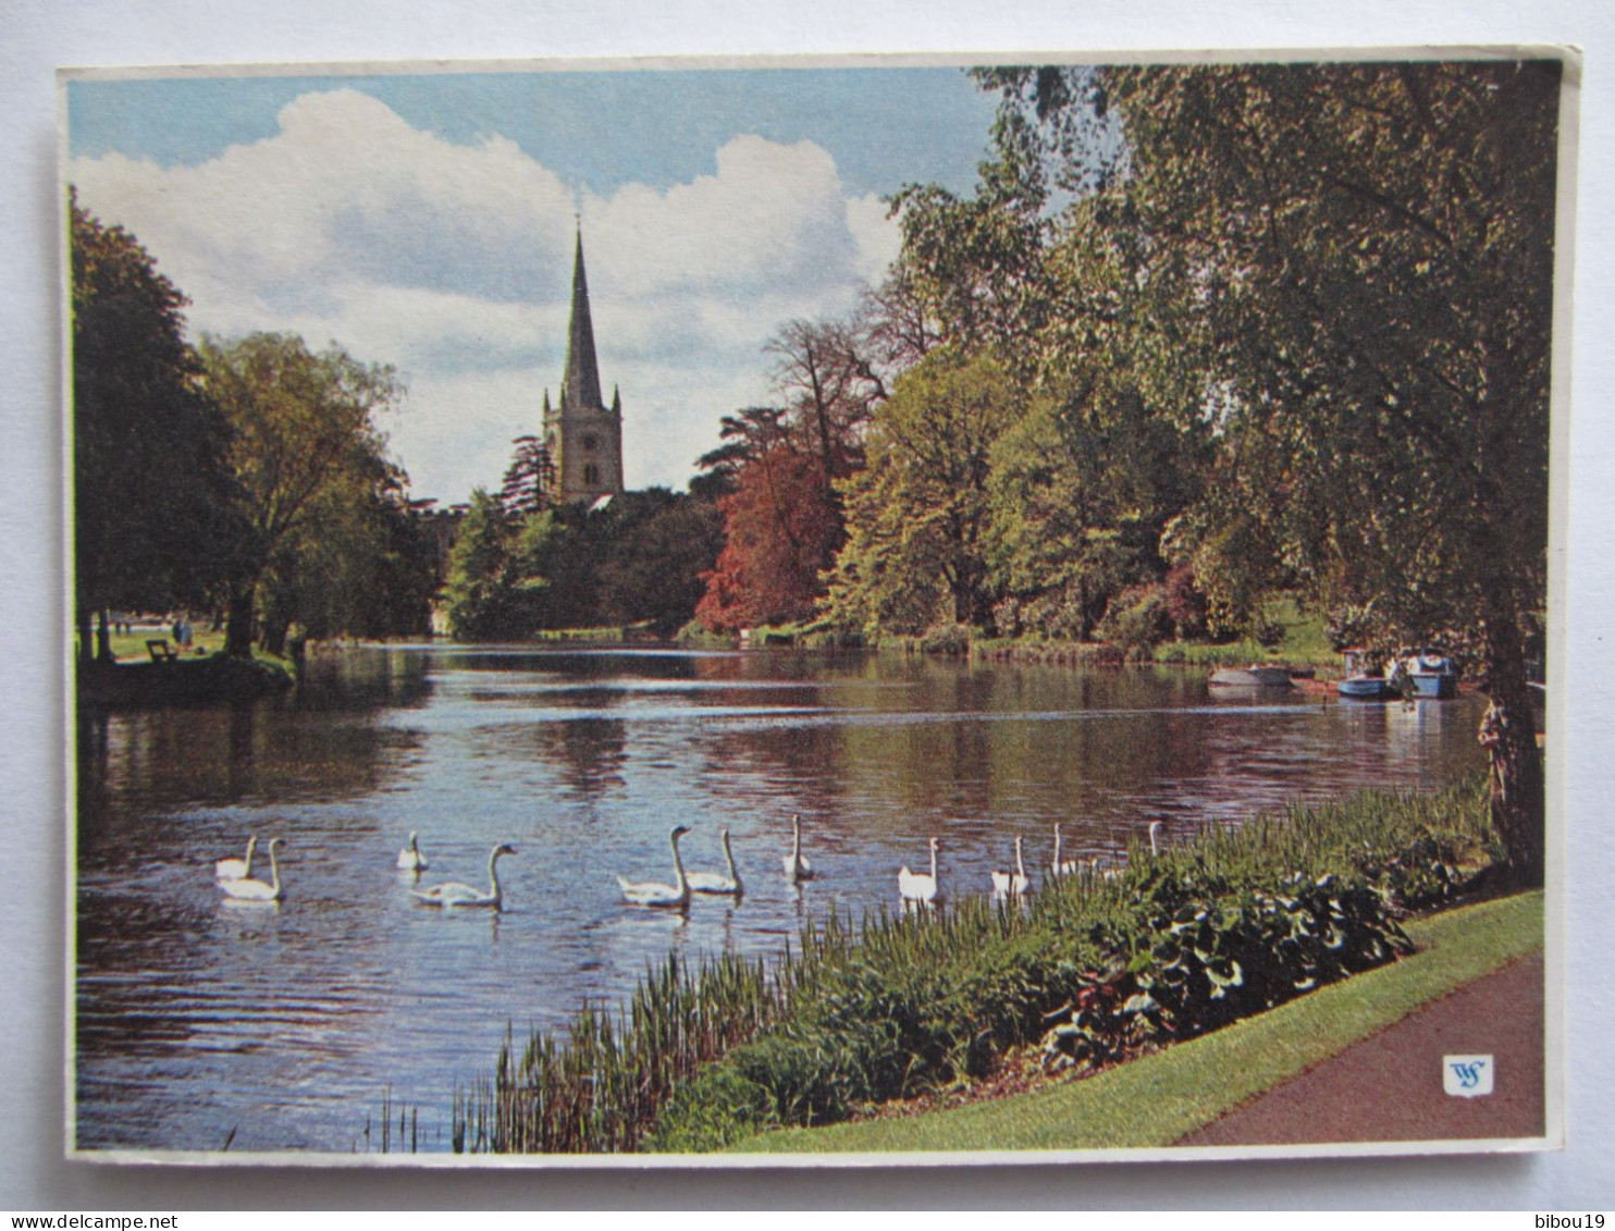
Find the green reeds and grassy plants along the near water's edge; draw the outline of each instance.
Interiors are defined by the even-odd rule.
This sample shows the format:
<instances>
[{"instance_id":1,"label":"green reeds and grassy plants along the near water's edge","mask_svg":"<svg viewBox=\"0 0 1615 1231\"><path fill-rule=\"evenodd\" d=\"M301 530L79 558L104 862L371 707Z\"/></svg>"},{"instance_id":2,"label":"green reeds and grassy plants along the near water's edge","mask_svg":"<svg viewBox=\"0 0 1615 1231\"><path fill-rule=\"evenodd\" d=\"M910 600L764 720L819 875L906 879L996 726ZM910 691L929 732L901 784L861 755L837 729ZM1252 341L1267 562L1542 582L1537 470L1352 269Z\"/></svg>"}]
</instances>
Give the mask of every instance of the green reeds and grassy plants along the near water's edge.
<instances>
[{"instance_id":1,"label":"green reeds and grassy plants along the near water's edge","mask_svg":"<svg viewBox=\"0 0 1615 1231\"><path fill-rule=\"evenodd\" d=\"M1151 887L1248 900L1339 876L1376 901L1431 905L1491 861L1487 834L1484 784L1368 792L1216 826L1158 858L1135 843L1119 877L1064 877L1027 903L972 897L856 926L832 913L774 963L669 956L615 1010L585 1005L562 1034L520 1048L507 1036L493 1076L455 1095L452 1147L699 1150L762 1124L845 1118L990 1073L1139 966L1160 942L1142 922Z\"/></svg>"}]
</instances>

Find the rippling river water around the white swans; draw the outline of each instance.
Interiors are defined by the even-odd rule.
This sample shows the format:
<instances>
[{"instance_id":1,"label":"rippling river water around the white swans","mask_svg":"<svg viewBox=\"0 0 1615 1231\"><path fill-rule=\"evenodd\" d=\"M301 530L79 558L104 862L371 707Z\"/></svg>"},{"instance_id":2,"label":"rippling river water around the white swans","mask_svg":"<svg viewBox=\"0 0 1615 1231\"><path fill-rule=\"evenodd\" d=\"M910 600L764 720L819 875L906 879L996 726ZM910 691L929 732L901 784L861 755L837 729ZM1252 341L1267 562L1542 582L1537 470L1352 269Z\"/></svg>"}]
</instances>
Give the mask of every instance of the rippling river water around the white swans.
<instances>
[{"instance_id":1,"label":"rippling river water around the white swans","mask_svg":"<svg viewBox=\"0 0 1615 1231\"><path fill-rule=\"evenodd\" d=\"M1219 690L1221 691L1221 690ZM900 656L404 646L308 664L289 698L120 712L79 732L74 1126L81 1149L380 1149L384 1100L449 1147L455 1089L514 1031L617 1005L670 952L775 955L804 919L896 906L1013 861L1119 858L1297 798L1436 788L1481 766L1473 698L1213 695L1206 672ZM819 879L782 872L790 817ZM615 876L746 884L688 914ZM439 911L396 869L505 908ZM283 837L286 898L223 900L213 861ZM268 876L262 845L255 876Z\"/></svg>"}]
</instances>

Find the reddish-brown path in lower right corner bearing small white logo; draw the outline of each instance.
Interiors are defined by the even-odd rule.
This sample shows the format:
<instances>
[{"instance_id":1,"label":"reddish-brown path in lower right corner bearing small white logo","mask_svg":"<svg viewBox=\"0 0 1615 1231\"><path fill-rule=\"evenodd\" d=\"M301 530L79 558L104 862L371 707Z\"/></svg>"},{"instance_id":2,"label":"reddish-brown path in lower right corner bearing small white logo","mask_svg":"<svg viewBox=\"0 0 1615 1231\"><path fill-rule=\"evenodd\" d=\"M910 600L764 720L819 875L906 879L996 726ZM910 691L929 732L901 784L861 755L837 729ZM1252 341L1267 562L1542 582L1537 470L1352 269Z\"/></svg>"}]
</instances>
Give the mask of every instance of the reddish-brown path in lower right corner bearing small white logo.
<instances>
[{"instance_id":1,"label":"reddish-brown path in lower right corner bearing small white logo","mask_svg":"<svg viewBox=\"0 0 1615 1231\"><path fill-rule=\"evenodd\" d=\"M1179 1145L1468 1141L1546 1132L1542 955L1533 953L1431 1002ZM1495 1087L1444 1090L1442 1058L1491 1055Z\"/></svg>"}]
</instances>

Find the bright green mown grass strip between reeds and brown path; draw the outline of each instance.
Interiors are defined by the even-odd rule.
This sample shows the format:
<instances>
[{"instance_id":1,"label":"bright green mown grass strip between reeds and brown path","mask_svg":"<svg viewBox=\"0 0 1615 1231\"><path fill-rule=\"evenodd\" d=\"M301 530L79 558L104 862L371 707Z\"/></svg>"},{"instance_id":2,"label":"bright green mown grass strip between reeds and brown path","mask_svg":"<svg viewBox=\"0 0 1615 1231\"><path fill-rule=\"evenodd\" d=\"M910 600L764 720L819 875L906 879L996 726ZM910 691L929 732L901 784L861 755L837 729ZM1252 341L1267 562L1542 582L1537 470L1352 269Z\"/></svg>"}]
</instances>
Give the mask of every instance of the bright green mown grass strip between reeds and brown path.
<instances>
[{"instance_id":1,"label":"bright green mown grass strip between reeds and brown path","mask_svg":"<svg viewBox=\"0 0 1615 1231\"><path fill-rule=\"evenodd\" d=\"M893 1120L785 1129L743 1153L1100 1150L1171 1145L1252 1095L1542 945L1542 895L1445 911L1407 927L1418 953L1085 1081Z\"/></svg>"}]
</instances>

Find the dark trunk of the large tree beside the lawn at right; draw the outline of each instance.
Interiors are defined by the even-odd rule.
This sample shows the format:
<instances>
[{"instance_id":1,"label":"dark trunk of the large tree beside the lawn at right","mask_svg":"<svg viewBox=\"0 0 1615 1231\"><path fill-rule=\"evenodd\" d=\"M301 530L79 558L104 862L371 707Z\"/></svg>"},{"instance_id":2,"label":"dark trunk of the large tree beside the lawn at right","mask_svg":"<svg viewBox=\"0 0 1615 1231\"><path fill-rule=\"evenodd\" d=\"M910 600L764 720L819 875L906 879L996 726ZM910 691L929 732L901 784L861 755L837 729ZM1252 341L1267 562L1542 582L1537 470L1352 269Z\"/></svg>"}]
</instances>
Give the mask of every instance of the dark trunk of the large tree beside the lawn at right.
<instances>
[{"instance_id":1,"label":"dark trunk of the large tree beside the lawn at right","mask_svg":"<svg viewBox=\"0 0 1615 1231\"><path fill-rule=\"evenodd\" d=\"M1525 645L1513 619L1486 622L1483 630L1491 704L1481 719L1481 745L1489 758L1492 829L1508 858L1508 877L1521 889L1542 884L1547 801L1542 753L1536 746Z\"/></svg>"}]
</instances>

